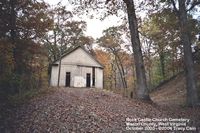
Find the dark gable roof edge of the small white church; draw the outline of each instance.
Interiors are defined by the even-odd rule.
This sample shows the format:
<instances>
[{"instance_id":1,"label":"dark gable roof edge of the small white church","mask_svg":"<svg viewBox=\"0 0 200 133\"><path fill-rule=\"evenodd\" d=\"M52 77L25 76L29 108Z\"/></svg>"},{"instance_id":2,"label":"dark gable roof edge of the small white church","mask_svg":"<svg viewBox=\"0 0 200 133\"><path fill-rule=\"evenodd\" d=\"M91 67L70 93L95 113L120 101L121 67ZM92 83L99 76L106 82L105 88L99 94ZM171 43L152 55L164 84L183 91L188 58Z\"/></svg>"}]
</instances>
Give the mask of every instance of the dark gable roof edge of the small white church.
<instances>
[{"instance_id":1,"label":"dark gable roof edge of the small white church","mask_svg":"<svg viewBox=\"0 0 200 133\"><path fill-rule=\"evenodd\" d=\"M87 55L89 55L95 62L97 62L101 66L101 68L104 68L104 66L94 56L92 56L83 46L80 46L80 45L78 45L78 46L72 48L71 50L67 51L66 53L64 53L61 56L61 59L64 58L65 56L69 55L70 53L76 51L78 48L81 48ZM59 61L59 58L57 60L53 61L52 64L55 64L57 61Z\"/></svg>"}]
</instances>

